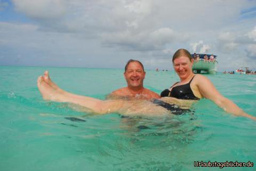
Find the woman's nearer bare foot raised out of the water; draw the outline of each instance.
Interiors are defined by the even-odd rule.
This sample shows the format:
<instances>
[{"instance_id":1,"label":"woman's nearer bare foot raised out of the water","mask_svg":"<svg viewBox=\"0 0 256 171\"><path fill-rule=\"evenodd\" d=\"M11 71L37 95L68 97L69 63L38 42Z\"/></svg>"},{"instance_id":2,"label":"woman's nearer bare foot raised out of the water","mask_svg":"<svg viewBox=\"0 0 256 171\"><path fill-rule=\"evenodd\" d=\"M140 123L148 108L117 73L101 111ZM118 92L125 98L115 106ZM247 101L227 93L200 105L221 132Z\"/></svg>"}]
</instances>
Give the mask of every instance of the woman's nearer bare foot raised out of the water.
<instances>
[{"instance_id":1,"label":"woman's nearer bare foot raised out of the water","mask_svg":"<svg viewBox=\"0 0 256 171\"><path fill-rule=\"evenodd\" d=\"M61 92L58 89L53 88L44 81L43 76L39 76L37 79L37 87L41 92L43 99L63 102L61 99ZM58 86L57 86L58 87Z\"/></svg>"}]
</instances>

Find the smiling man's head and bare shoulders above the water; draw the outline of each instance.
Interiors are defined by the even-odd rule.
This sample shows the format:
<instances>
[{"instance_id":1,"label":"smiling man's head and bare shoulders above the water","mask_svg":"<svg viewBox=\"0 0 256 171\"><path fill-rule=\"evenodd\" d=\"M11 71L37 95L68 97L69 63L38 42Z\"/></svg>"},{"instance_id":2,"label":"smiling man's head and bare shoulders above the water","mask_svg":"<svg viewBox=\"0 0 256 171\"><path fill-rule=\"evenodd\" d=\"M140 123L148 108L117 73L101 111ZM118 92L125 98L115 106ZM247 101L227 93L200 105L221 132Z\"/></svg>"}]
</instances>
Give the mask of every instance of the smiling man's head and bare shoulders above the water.
<instances>
[{"instance_id":1,"label":"smiling man's head and bare shoulders above the water","mask_svg":"<svg viewBox=\"0 0 256 171\"><path fill-rule=\"evenodd\" d=\"M124 78L127 82L127 87L113 91L108 98L115 97L133 97L138 99L160 98L160 96L143 87L143 80L146 72L140 61L130 59L125 65Z\"/></svg>"}]
</instances>

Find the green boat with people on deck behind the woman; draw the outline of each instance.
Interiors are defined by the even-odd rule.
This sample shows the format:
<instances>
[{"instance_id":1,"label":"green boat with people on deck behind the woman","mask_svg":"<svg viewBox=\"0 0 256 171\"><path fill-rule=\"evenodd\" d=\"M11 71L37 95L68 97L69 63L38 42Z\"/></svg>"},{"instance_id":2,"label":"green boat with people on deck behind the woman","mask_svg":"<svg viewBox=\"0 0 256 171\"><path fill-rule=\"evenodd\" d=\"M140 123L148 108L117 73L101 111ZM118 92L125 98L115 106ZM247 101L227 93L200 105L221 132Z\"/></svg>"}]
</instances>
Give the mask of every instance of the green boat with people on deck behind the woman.
<instances>
[{"instance_id":1,"label":"green boat with people on deck behind the woman","mask_svg":"<svg viewBox=\"0 0 256 171\"><path fill-rule=\"evenodd\" d=\"M194 58L192 70L194 73L216 74L217 73L217 55L211 54L191 54ZM207 56L207 60L205 57ZM213 56L213 57L211 57ZM211 57L211 58L210 58Z\"/></svg>"}]
</instances>

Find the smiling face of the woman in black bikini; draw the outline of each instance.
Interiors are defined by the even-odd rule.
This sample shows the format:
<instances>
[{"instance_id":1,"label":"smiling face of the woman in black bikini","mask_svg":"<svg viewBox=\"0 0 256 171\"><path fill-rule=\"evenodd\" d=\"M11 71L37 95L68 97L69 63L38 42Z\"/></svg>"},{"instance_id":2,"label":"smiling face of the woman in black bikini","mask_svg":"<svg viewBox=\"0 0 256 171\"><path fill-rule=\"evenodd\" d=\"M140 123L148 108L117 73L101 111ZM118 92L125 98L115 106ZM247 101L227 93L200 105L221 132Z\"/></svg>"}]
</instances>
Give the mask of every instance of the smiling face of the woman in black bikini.
<instances>
[{"instance_id":1,"label":"smiling face of the woman in black bikini","mask_svg":"<svg viewBox=\"0 0 256 171\"><path fill-rule=\"evenodd\" d=\"M193 66L194 60L189 59L187 56L180 56L178 58L175 58L173 61L173 67L175 72L179 75L180 80L185 80L188 78L190 74L192 74L192 66Z\"/></svg>"}]
</instances>

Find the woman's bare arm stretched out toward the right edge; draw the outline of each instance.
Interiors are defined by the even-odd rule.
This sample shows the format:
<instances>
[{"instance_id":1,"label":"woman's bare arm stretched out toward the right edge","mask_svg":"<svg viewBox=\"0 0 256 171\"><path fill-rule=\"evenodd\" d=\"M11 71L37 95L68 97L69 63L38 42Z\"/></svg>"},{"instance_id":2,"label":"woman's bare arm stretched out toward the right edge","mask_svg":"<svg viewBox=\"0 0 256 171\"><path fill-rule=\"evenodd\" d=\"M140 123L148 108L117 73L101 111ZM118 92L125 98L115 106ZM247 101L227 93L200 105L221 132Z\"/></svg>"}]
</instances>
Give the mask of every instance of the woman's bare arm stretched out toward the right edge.
<instances>
[{"instance_id":1,"label":"woman's bare arm stretched out toward the right edge","mask_svg":"<svg viewBox=\"0 0 256 171\"><path fill-rule=\"evenodd\" d=\"M221 107L225 112L236 116L244 116L256 120L256 117L245 113L234 102L228 98L223 97L218 90L213 86L212 82L203 75L197 75L196 86L204 98L210 99Z\"/></svg>"}]
</instances>

